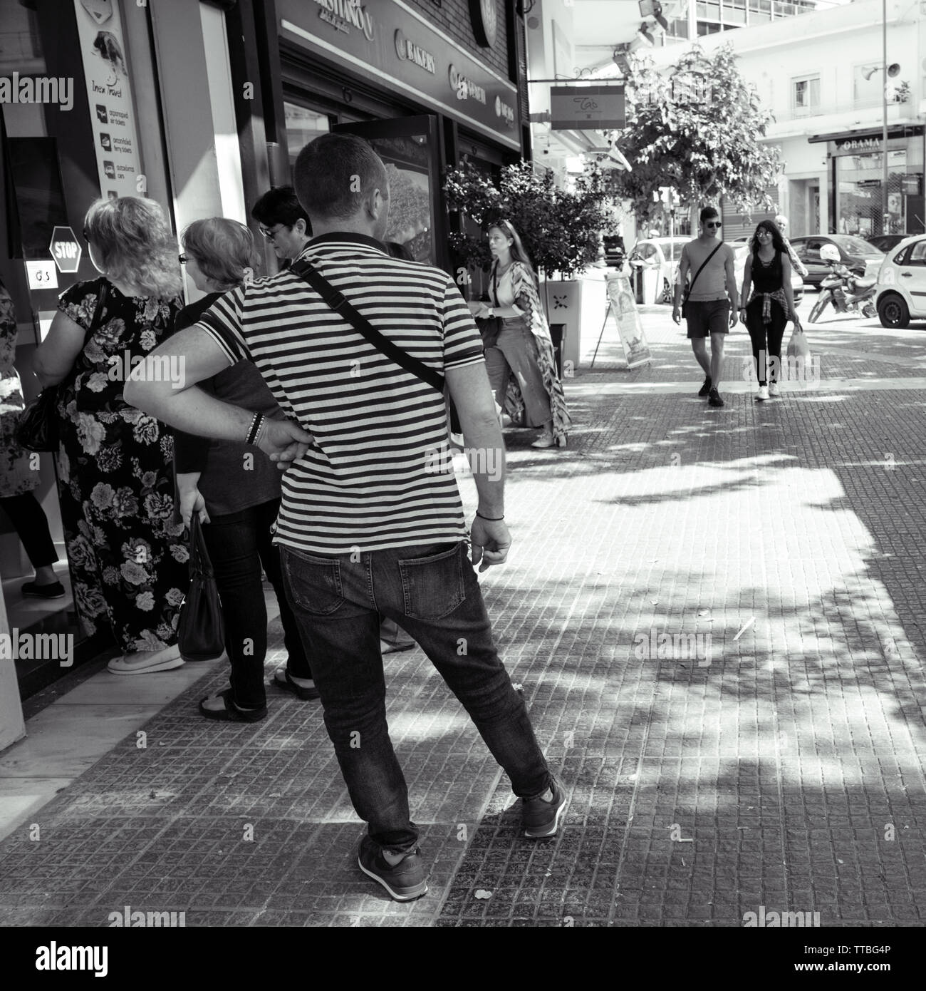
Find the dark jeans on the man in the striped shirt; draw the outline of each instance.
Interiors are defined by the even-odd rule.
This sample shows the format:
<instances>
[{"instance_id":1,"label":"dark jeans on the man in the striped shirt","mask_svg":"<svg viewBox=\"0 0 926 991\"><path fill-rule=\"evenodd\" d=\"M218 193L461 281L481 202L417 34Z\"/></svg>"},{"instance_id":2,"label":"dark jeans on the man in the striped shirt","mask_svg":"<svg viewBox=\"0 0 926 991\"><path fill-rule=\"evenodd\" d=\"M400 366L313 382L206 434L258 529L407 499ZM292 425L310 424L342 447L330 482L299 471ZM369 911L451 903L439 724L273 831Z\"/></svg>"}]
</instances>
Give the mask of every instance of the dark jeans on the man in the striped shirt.
<instances>
[{"instance_id":1,"label":"dark jeans on the man in the striped shirt","mask_svg":"<svg viewBox=\"0 0 926 991\"><path fill-rule=\"evenodd\" d=\"M328 735L354 808L374 841L397 853L418 841L386 725L379 613L421 645L508 774L515 795L534 798L550 787L527 707L492 643L464 543L337 557L281 547L280 558L286 595L312 654Z\"/></svg>"}]
</instances>

